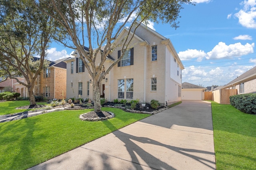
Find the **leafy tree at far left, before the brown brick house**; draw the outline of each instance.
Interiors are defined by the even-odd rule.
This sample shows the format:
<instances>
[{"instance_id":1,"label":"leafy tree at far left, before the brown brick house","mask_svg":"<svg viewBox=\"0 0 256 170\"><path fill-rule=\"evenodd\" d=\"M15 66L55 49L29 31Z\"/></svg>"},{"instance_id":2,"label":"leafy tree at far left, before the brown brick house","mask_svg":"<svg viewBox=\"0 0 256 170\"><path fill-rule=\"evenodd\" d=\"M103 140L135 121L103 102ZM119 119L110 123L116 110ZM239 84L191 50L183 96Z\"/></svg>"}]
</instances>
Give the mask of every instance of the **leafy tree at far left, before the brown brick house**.
<instances>
[{"instance_id":1,"label":"leafy tree at far left, before the brown brick house","mask_svg":"<svg viewBox=\"0 0 256 170\"><path fill-rule=\"evenodd\" d=\"M55 31L50 16L28 0L0 1L0 72L28 88L30 105L35 105L35 80L49 63L46 49ZM40 58L34 58L39 55ZM17 78L23 76L26 82Z\"/></svg>"}]
</instances>

